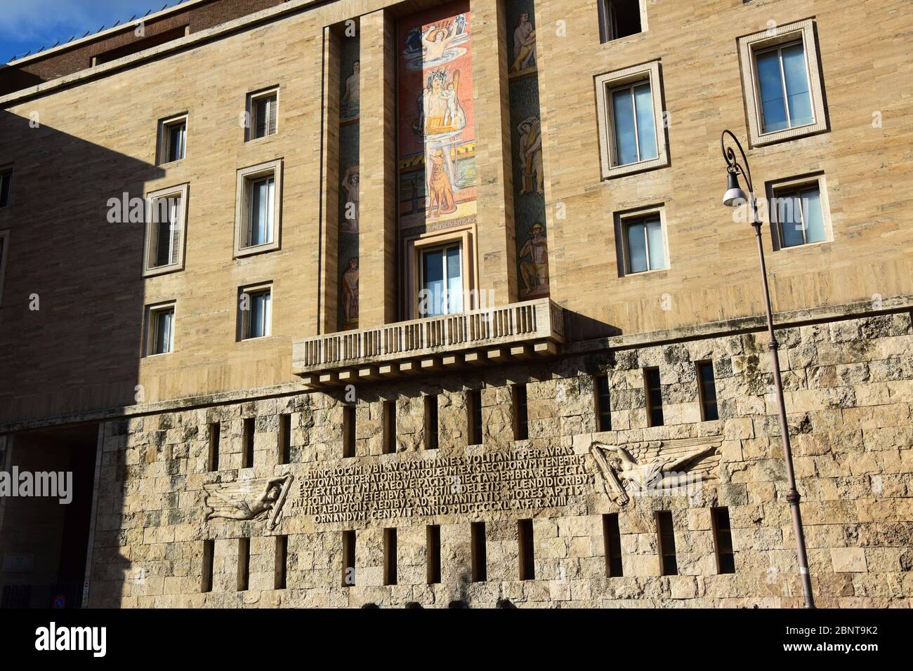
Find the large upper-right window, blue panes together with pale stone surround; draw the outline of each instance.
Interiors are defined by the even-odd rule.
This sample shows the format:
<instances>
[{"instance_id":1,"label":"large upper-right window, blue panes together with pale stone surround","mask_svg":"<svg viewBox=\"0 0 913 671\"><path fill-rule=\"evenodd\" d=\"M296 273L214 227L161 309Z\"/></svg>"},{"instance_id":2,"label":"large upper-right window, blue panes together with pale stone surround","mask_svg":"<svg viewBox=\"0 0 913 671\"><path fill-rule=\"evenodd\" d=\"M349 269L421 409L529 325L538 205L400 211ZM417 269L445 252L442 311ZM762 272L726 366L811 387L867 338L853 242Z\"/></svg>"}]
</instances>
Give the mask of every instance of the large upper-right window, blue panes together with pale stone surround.
<instances>
[{"instance_id":1,"label":"large upper-right window, blue panes together with pale stone surround","mask_svg":"<svg viewBox=\"0 0 913 671\"><path fill-rule=\"evenodd\" d=\"M827 130L813 19L740 37L739 60L751 146Z\"/></svg>"}]
</instances>

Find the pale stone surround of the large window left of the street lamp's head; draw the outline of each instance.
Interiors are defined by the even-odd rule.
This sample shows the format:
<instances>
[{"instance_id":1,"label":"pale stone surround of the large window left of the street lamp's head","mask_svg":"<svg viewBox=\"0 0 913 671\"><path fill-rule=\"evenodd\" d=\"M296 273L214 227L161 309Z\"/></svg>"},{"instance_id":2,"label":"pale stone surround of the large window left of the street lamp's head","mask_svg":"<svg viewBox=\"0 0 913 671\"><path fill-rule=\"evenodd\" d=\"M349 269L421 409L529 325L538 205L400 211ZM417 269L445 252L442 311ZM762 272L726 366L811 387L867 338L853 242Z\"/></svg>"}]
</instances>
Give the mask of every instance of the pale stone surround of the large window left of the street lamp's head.
<instances>
[{"instance_id":1,"label":"pale stone surround of the large window left of the street lamp's head","mask_svg":"<svg viewBox=\"0 0 913 671\"><path fill-rule=\"evenodd\" d=\"M612 92L643 82L649 82L650 97L653 101L656 158L638 163L619 165L615 149ZM666 143L666 125L663 117L663 89L659 61L655 60L631 68L607 72L596 77L595 84L596 119L599 125L599 147L603 180L620 177L625 174L641 173L645 170L654 170L668 165L669 151Z\"/></svg>"}]
</instances>

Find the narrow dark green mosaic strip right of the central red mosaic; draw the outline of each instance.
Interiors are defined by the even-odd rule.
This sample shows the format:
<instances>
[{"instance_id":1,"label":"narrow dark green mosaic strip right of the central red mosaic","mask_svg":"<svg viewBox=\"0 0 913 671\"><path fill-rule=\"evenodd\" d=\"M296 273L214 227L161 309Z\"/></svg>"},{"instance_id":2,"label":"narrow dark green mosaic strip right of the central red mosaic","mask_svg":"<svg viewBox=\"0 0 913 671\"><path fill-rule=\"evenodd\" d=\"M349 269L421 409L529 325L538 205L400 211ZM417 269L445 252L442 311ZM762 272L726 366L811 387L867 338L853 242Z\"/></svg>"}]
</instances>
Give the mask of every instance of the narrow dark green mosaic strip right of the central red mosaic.
<instances>
[{"instance_id":1,"label":"narrow dark green mosaic strip right of the central red mosaic","mask_svg":"<svg viewBox=\"0 0 913 671\"><path fill-rule=\"evenodd\" d=\"M549 295L549 248L533 0L505 0L504 8L517 282L520 299L539 299Z\"/></svg>"}]
</instances>

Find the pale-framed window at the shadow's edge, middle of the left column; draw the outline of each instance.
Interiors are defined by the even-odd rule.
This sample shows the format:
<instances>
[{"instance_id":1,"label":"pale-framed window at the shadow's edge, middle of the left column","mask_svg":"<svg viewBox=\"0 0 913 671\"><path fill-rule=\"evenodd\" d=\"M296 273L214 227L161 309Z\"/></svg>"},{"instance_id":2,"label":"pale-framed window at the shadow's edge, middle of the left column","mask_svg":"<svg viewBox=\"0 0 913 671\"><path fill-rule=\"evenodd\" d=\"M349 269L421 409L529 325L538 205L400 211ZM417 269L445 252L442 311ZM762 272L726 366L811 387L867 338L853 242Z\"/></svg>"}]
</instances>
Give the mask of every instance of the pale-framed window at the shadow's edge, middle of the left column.
<instances>
[{"instance_id":1,"label":"pale-framed window at the shadow's edge, middle of the left column","mask_svg":"<svg viewBox=\"0 0 913 671\"><path fill-rule=\"evenodd\" d=\"M143 275L159 275L184 267L187 184L146 196L146 244Z\"/></svg>"}]
</instances>

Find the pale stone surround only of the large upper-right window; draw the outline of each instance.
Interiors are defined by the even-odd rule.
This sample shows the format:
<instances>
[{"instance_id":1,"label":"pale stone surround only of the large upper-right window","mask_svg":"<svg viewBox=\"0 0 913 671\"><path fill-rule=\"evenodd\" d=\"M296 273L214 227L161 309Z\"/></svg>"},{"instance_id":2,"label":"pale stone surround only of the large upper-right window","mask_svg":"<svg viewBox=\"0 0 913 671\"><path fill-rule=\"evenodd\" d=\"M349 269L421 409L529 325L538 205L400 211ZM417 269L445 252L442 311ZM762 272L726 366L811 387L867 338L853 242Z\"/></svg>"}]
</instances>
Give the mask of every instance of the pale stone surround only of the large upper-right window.
<instances>
[{"instance_id":1,"label":"pale stone surround only of the large upper-right window","mask_svg":"<svg viewBox=\"0 0 913 671\"><path fill-rule=\"evenodd\" d=\"M803 126L793 126L782 131L765 133L763 132L761 116L761 82L758 78L758 54L771 48L782 48L797 42L802 42L803 44L808 89L812 98L813 121ZM784 142L827 131L824 87L822 85L821 70L818 68L818 45L814 35L813 19L796 21L784 26L771 28L771 30L740 37L739 58L742 89L746 97L745 110L748 114L749 139L752 147L761 147L774 142ZM785 86L785 82L783 85ZM789 121L788 116L787 121Z\"/></svg>"}]
</instances>

